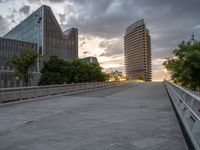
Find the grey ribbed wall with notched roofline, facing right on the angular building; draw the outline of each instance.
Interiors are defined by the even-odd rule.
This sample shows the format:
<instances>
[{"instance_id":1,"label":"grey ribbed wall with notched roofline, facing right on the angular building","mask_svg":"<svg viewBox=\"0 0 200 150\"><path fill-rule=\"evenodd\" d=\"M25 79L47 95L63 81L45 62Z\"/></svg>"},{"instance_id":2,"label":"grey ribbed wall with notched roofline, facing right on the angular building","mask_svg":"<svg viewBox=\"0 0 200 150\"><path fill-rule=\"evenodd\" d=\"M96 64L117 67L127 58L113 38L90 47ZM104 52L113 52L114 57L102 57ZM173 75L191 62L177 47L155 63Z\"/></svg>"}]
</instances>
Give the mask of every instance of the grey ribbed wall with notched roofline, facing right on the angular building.
<instances>
[{"instance_id":1,"label":"grey ribbed wall with notched roofline, facing right on the angular building","mask_svg":"<svg viewBox=\"0 0 200 150\"><path fill-rule=\"evenodd\" d=\"M62 32L50 7L43 6L44 59L56 55L64 60L78 59L78 29Z\"/></svg>"}]
</instances>

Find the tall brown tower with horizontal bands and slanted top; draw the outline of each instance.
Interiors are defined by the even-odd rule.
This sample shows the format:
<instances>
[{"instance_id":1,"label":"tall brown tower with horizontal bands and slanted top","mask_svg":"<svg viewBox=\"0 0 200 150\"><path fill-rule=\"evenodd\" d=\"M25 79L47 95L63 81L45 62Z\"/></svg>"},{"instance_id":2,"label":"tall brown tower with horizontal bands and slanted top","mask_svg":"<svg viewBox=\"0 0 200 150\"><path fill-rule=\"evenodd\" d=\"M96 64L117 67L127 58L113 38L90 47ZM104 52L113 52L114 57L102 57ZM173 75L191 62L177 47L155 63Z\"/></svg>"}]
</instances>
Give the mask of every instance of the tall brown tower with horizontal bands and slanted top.
<instances>
[{"instance_id":1,"label":"tall brown tower with horizontal bands and slanted top","mask_svg":"<svg viewBox=\"0 0 200 150\"><path fill-rule=\"evenodd\" d=\"M126 29L124 49L127 77L151 81L151 37L144 19L138 20Z\"/></svg>"}]
</instances>

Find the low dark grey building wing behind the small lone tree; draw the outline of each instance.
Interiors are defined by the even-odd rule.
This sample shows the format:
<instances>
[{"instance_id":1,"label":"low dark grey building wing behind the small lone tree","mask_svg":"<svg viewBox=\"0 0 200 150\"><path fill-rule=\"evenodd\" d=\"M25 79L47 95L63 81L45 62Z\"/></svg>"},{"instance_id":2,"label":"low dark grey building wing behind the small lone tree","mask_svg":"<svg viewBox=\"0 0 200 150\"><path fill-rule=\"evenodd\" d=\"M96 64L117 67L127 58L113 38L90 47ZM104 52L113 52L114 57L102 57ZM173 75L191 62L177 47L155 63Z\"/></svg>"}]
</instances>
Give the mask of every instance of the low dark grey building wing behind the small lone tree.
<instances>
[{"instance_id":1,"label":"low dark grey building wing behind the small lone tree","mask_svg":"<svg viewBox=\"0 0 200 150\"><path fill-rule=\"evenodd\" d=\"M17 78L14 68L8 62L13 56L17 57L27 49L36 52L37 44L0 38L0 88L24 86L23 81ZM35 71L36 66L31 69L31 85L36 85Z\"/></svg>"}]
</instances>

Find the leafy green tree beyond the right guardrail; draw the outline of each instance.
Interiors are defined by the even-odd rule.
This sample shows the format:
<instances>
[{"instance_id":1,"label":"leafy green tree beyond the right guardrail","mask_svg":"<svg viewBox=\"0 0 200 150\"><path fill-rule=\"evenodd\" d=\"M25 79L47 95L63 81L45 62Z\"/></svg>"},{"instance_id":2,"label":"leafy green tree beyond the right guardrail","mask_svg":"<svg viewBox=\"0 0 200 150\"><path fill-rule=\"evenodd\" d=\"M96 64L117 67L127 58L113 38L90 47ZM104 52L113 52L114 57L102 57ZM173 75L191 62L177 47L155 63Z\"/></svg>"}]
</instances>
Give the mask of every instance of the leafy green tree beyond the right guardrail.
<instances>
[{"instance_id":1,"label":"leafy green tree beyond the right guardrail","mask_svg":"<svg viewBox=\"0 0 200 150\"><path fill-rule=\"evenodd\" d=\"M175 83L193 90L200 87L200 42L181 42L174 57L163 63Z\"/></svg>"}]
</instances>

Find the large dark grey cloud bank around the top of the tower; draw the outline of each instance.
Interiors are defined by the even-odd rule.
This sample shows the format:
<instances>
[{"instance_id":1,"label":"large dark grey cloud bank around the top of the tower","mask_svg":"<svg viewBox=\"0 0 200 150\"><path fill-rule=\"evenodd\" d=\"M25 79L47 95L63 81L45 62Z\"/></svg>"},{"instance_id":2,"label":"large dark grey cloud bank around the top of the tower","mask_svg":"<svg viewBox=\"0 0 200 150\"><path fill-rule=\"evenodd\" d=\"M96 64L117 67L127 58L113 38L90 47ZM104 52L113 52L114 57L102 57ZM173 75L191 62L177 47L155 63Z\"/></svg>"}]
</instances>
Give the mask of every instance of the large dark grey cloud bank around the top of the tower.
<instances>
[{"instance_id":1,"label":"large dark grey cloud bank around the top of the tower","mask_svg":"<svg viewBox=\"0 0 200 150\"><path fill-rule=\"evenodd\" d=\"M139 18L144 18L152 36L153 57L171 55L182 40L189 40L192 32L199 32L199 0L77 0L74 10L81 12L70 16L65 27L77 26L82 33L103 38L123 37L125 28ZM195 19L194 19L195 18Z\"/></svg>"}]
</instances>

